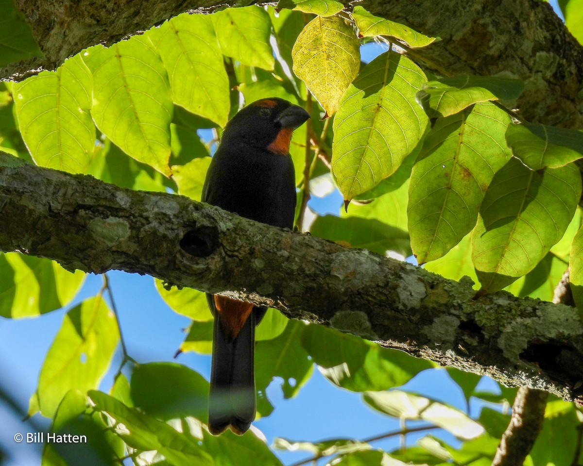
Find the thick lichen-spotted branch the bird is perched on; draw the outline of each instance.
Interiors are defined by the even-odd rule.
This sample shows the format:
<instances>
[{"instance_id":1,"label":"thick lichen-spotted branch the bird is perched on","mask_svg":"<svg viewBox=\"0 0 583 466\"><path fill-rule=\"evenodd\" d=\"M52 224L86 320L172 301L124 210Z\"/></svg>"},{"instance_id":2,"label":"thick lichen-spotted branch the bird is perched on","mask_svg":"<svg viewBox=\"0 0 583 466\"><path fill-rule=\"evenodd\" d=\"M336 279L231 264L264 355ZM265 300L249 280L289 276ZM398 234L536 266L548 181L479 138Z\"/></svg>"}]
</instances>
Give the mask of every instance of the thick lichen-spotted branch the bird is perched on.
<instances>
[{"instance_id":1,"label":"thick lichen-spotted branch the bird is perched on","mask_svg":"<svg viewBox=\"0 0 583 466\"><path fill-rule=\"evenodd\" d=\"M34 165L0 167L0 250L66 269L150 274L331 325L442 365L581 393L583 323L570 306L499 292L474 301L420 267L237 217L184 196ZM224 292L224 290L234 290Z\"/></svg>"}]
</instances>

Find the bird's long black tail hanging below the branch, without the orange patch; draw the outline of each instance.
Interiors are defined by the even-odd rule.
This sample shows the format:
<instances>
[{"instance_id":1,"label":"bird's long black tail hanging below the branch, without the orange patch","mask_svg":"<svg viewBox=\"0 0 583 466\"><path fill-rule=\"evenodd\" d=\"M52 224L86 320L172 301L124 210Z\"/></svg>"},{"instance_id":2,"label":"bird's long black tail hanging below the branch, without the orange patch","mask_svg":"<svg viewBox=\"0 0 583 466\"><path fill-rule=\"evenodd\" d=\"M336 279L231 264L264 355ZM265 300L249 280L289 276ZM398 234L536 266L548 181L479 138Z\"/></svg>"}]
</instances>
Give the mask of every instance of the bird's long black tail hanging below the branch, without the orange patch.
<instances>
[{"instance_id":1,"label":"bird's long black tail hanging below the branch, without the orange patch","mask_svg":"<svg viewBox=\"0 0 583 466\"><path fill-rule=\"evenodd\" d=\"M213 361L210 369L209 431L219 435L230 428L243 435L255 419L253 370L255 312L252 311L235 338L223 329L215 313Z\"/></svg>"}]
</instances>

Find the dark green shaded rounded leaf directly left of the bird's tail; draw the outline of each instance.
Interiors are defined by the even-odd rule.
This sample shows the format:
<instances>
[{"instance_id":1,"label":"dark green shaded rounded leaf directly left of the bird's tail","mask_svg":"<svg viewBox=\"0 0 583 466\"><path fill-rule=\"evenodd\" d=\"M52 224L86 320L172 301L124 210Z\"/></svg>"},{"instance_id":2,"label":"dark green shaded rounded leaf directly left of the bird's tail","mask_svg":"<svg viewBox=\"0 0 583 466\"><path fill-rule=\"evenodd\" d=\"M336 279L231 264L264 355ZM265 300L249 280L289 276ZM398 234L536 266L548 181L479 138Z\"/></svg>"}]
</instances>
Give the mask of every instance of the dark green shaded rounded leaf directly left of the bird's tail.
<instances>
[{"instance_id":1,"label":"dark green shaded rounded leaf directly left of the bird's tail","mask_svg":"<svg viewBox=\"0 0 583 466\"><path fill-rule=\"evenodd\" d=\"M163 396L160 396L163 394ZM208 415L209 383L198 372L174 362L150 362L132 373L134 407L163 421Z\"/></svg>"}]
</instances>

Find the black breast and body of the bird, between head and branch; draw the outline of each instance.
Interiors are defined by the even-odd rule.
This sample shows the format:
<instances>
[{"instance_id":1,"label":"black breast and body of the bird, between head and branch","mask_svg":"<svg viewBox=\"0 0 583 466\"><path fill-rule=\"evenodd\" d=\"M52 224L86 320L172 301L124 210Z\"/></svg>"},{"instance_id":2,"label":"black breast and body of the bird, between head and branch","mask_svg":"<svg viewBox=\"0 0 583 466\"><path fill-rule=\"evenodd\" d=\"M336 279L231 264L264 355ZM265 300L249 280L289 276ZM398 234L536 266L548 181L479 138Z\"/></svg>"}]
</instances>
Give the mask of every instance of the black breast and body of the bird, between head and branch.
<instances>
[{"instance_id":1,"label":"black breast and body of the bird, between head and branch","mask_svg":"<svg viewBox=\"0 0 583 466\"><path fill-rule=\"evenodd\" d=\"M291 158L245 144L221 146L210 163L202 200L241 217L293 228L296 186Z\"/></svg>"}]
</instances>

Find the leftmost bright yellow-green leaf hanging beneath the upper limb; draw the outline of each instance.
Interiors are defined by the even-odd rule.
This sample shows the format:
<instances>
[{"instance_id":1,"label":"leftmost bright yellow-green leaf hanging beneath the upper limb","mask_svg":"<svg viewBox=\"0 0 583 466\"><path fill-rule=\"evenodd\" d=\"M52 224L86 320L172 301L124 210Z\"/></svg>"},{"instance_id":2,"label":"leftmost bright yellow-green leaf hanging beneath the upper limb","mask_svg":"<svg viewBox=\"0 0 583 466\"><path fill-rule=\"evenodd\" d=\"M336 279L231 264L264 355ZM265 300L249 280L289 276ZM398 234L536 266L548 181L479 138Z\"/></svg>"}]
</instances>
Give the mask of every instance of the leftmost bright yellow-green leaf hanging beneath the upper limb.
<instances>
[{"instance_id":1,"label":"leftmost bright yellow-green leaf hanging beneath the upper limb","mask_svg":"<svg viewBox=\"0 0 583 466\"><path fill-rule=\"evenodd\" d=\"M44 71L14 85L20 132L37 165L87 172L95 145L89 114L92 86L80 55L57 71Z\"/></svg>"}]
</instances>

